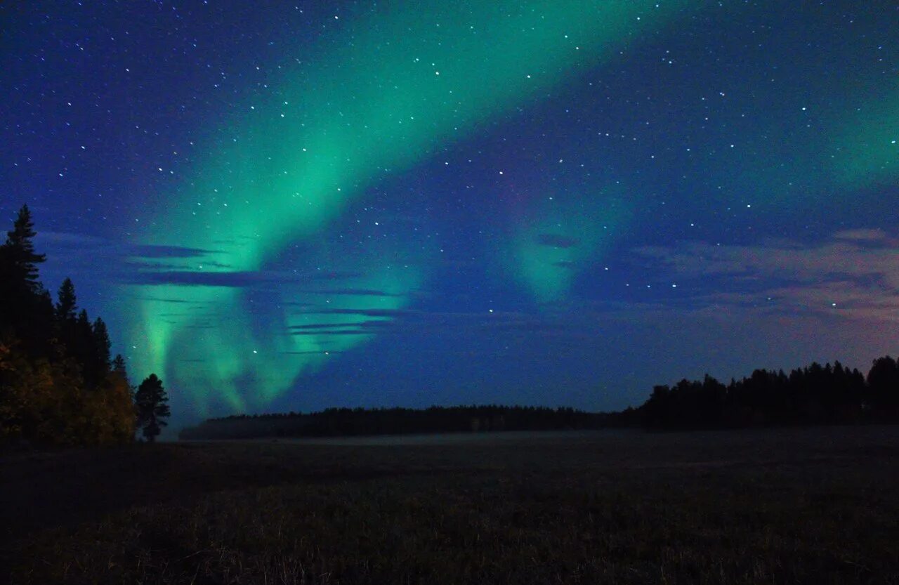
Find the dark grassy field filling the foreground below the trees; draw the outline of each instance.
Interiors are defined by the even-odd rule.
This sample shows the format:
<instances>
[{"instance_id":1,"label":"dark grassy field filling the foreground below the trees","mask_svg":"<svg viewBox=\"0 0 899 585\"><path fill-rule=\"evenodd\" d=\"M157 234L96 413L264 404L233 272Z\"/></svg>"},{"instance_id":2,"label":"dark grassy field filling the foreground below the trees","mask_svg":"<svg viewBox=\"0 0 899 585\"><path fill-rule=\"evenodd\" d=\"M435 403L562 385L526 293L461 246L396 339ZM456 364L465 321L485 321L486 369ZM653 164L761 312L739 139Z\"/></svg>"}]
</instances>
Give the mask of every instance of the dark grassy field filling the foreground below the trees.
<instances>
[{"instance_id":1,"label":"dark grassy field filling the foreground below the trees","mask_svg":"<svg viewBox=\"0 0 899 585\"><path fill-rule=\"evenodd\" d=\"M899 583L897 494L899 427L15 455L0 563L40 584Z\"/></svg>"}]
</instances>

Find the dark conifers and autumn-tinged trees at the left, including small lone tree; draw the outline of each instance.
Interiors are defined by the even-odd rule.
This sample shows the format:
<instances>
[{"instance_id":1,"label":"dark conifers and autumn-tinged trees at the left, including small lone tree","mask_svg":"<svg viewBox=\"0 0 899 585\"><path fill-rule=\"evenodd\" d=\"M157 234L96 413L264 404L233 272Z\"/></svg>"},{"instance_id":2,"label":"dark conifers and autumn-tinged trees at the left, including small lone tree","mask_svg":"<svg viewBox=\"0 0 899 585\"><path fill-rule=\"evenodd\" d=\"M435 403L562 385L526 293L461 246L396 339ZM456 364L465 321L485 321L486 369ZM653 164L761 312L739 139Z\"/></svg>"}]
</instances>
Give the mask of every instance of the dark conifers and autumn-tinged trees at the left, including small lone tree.
<instances>
[{"instance_id":1,"label":"dark conifers and autumn-tinged trees at the left, including small lone tree","mask_svg":"<svg viewBox=\"0 0 899 585\"><path fill-rule=\"evenodd\" d=\"M155 439L170 413L162 381L150 375L134 392L102 318L78 310L71 279L54 303L35 235L22 206L0 245L0 445L120 444L136 429Z\"/></svg>"}]
</instances>

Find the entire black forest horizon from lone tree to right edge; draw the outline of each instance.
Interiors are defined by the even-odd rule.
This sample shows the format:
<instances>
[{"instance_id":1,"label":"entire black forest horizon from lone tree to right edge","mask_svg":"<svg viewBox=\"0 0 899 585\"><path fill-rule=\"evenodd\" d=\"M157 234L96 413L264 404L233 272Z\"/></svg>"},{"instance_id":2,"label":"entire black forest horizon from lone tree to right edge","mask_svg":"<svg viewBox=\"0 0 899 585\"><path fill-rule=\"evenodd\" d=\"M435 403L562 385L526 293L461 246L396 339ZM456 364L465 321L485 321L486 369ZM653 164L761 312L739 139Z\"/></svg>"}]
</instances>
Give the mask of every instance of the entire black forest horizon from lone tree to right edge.
<instances>
[{"instance_id":1,"label":"entire black forest horizon from lone tree to right edge","mask_svg":"<svg viewBox=\"0 0 899 585\"><path fill-rule=\"evenodd\" d=\"M653 430L729 429L812 424L899 422L899 363L874 360L858 369L813 363L789 374L757 369L724 385L706 376L655 386L639 408L583 412L531 406L333 408L307 414L237 415L181 431L181 439L337 437L409 433L566 430L645 427Z\"/></svg>"}]
</instances>

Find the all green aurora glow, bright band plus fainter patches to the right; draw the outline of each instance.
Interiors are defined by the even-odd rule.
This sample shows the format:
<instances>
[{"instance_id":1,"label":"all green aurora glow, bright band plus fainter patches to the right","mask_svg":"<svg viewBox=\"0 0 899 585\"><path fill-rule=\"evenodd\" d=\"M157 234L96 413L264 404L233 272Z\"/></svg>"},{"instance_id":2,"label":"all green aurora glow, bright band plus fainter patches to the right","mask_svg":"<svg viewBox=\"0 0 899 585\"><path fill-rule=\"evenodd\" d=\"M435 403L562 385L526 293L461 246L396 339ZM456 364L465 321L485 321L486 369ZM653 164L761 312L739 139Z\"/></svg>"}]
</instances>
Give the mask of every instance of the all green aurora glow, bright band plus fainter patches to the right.
<instances>
[{"instance_id":1,"label":"all green aurora glow, bright band plus fainter patches to the right","mask_svg":"<svg viewBox=\"0 0 899 585\"><path fill-rule=\"evenodd\" d=\"M209 112L203 155L151 204L140 243L190 250L164 268L144 260L147 281L121 296L116 310L129 324L134 367L173 378L201 416L222 403L234 412L271 403L298 376L369 340L375 333L363 332L363 322L389 319L351 309L389 315L410 306L440 257L439 244L416 234L404 244L343 242L332 228L353 200L713 8L723 10L688 0L391 3L335 19L317 53L270 81L267 99L225 116ZM803 72L797 86L814 87L822 71ZM828 75L832 89L841 70ZM733 92L744 100L734 112L743 113L725 120L745 130L746 142L703 155L692 170L722 198L752 185L753 203L795 210L823 193L894 184L899 92L894 84L871 93L858 75L847 84L853 90L833 89L839 100L808 104L823 123L793 126L778 115L743 117L768 103L806 111L804 94L778 103L777 90L757 90L746 75ZM531 193L497 251L497 270L539 305L564 301L579 271L595 267L647 201L645 184L620 178L594 177L591 192L547 184ZM295 246L316 265L285 264ZM254 294L280 314L255 312ZM304 329L321 324L345 331Z\"/></svg>"}]
</instances>

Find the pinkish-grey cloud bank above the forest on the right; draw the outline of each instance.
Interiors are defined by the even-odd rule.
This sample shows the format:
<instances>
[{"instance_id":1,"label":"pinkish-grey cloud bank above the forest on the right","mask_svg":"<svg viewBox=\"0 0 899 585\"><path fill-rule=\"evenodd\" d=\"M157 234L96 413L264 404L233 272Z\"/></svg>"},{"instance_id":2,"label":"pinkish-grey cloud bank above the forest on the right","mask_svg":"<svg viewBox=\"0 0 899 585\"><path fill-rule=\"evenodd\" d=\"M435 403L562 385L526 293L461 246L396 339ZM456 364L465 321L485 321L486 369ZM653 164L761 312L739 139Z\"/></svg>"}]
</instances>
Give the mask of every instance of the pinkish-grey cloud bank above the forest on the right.
<instances>
[{"instance_id":1,"label":"pinkish-grey cloud bank above the forest on the right","mask_svg":"<svg viewBox=\"0 0 899 585\"><path fill-rule=\"evenodd\" d=\"M708 307L782 315L899 322L899 240L882 230L833 234L814 245L789 240L724 246L690 242L634 251Z\"/></svg>"}]
</instances>

